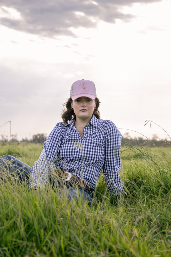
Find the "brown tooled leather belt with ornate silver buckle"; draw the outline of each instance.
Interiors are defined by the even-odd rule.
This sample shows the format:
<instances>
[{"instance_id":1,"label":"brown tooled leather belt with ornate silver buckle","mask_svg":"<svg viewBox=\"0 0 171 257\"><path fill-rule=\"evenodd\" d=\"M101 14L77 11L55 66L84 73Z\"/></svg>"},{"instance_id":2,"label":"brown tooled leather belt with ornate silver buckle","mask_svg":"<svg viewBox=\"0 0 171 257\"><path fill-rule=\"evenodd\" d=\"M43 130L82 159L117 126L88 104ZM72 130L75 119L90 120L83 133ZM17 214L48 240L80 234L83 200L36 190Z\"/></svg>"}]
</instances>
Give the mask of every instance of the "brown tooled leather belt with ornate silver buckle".
<instances>
[{"instance_id":1,"label":"brown tooled leather belt with ornate silver buckle","mask_svg":"<svg viewBox=\"0 0 171 257\"><path fill-rule=\"evenodd\" d=\"M89 190L90 192L93 192L94 190L92 188L89 188L80 178L76 178L74 175L72 175L72 173L70 172L63 172L61 170L58 171L58 176L62 177L63 179L65 179L66 181L71 181L71 182L75 182L77 185L82 186L84 188L86 188L87 190Z\"/></svg>"}]
</instances>

